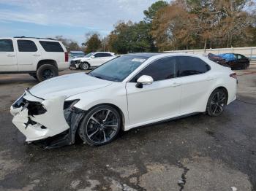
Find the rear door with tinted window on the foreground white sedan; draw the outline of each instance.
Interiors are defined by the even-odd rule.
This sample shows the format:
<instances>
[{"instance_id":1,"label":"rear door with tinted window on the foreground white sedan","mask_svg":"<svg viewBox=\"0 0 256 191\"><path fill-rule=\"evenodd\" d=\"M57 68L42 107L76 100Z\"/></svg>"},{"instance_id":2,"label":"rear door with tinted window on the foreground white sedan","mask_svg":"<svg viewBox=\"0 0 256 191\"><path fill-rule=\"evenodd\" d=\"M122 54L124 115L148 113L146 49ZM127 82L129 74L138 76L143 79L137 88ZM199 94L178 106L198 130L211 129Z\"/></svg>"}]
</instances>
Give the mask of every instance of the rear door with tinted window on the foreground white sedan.
<instances>
[{"instance_id":1,"label":"rear door with tinted window on the foreground white sedan","mask_svg":"<svg viewBox=\"0 0 256 191\"><path fill-rule=\"evenodd\" d=\"M200 112L215 80L208 75L210 66L200 58L177 56L176 69L182 84L181 114Z\"/></svg>"}]
</instances>

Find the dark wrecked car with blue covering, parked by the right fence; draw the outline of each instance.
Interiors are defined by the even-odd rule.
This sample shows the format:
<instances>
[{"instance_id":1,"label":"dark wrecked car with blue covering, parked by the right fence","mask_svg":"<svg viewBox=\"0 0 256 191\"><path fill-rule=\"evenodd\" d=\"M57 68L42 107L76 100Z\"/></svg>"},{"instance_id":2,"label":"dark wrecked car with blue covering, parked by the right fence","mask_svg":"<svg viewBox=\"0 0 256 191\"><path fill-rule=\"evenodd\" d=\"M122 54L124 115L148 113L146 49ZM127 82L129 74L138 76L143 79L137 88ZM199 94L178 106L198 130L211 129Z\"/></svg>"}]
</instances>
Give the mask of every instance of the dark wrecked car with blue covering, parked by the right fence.
<instances>
[{"instance_id":1,"label":"dark wrecked car with blue covering, parked by the right fence","mask_svg":"<svg viewBox=\"0 0 256 191\"><path fill-rule=\"evenodd\" d=\"M231 69L247 69L249 67L249 58L241 54L225 53L214 55L209 53L208 58L223 66L229 66Z\"/></svg>"}]
</instances>

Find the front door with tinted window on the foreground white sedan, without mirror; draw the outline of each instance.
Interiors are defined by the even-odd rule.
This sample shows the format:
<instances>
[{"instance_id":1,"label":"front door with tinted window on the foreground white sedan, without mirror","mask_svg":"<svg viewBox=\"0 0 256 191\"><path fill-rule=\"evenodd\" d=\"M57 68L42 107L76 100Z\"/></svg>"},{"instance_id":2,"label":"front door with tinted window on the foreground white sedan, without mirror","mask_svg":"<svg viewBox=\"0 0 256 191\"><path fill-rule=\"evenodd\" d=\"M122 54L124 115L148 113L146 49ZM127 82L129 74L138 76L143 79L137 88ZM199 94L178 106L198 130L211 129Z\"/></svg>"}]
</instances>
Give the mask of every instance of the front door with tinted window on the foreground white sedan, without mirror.
<instances>
[{"instance_id":1,"label":"front door with tinted window on the foreground white sedan, without mirror","mask_svg":"<svg viewBox=\"0 0 256 191\"><path fill-rule=\"evenodd\" d=\"M151 76L151 85L136 87L143 75ZM161 58L150 63L127 82L129 125L144 125L179 114L181 82L176 78L176 58Z\"/></svg>"}]
</instances>

